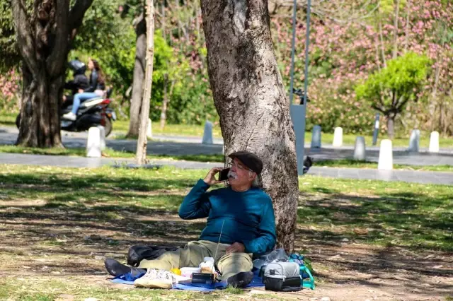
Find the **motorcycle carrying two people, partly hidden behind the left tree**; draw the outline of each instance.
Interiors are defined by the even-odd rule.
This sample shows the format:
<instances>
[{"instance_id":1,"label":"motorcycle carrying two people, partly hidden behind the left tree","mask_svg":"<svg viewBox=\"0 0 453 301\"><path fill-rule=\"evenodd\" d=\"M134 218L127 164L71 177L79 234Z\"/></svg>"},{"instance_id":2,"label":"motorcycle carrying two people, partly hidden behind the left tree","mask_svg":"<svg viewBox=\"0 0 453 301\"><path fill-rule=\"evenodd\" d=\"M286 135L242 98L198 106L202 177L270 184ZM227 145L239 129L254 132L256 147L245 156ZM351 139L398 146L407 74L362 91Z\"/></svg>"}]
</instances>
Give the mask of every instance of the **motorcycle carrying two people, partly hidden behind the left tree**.
<instances>
[{"instance_id":1,"label":"motorcycle carrying two people, partly hidden behind the left tree","mask_svg":"<svg viewBox=\"0 0 453 301\"><path fill-rule=\"evenodd\" d=\"M60 129L64 131L88 131L91 126L101 125L105 129L105 136L108 136L113 129L112 121L116 121L115 111L108 107L110 105L110 94L112 89L108 89L106 97L91 98L81 103L77 112L76 120L62 119L62 115L71 112L71 103L63 103L60 111ZM21 114L16 117L16 126L21 124Z\"/></svg>"}]
</instances>

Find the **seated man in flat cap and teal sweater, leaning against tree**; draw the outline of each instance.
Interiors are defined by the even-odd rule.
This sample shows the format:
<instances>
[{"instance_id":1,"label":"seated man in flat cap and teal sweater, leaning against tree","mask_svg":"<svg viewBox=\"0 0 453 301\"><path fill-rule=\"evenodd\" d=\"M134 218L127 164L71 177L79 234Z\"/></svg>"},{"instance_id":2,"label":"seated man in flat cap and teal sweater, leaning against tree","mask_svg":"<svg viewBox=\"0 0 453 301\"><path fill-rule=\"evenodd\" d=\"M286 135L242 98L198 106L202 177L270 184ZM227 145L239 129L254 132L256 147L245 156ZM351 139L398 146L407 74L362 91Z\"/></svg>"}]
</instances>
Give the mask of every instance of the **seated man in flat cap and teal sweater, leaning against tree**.
<instances>
[{"instance_id":1,"label":"seated man in flat cap and teal sweater, leaning against tree","mask_svg":"<svg viewBox=\"0 0 453 301\"><path fill-rule=\"evenodd\" d=\"M214 176L223 168L214 167L185 196L179 208L179 216L185 220L207 217L199 240L155 260L143 260L139 270L197 267L205 257L215 256L214 263L222 273L219 277L222 281L234 287L245 287L251 282L252 254L263 254L275 245L273 204L258 185L257 177L263 170L260 158L246 151L232 153L229 157L233 160L229 187L207 192L213 184L222 182ZM107 259L105 267L113 276L136 269L113 259Z\"/></svg>"}]
</instances>

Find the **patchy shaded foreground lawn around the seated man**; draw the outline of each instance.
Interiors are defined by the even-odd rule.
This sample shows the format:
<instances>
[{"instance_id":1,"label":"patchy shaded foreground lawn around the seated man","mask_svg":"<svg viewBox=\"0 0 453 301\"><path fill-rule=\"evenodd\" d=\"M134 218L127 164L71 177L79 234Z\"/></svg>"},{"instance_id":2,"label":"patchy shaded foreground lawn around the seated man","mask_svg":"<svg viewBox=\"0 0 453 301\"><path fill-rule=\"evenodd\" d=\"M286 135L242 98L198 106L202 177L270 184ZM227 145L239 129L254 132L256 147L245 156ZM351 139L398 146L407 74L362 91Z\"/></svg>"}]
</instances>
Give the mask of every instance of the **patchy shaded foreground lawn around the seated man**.
<instances>
[{"instance_id":1,"label":"patchy shaded foreground lawn around the seated man","mask_svg":"<svg viewBox=\"0 0 453 301\"><path fill-rule=\"evenodd\" d=\"M123 261L132 244L197 238L205 220L180 220L177 211L206 172L2 165L0 300L451 297L453 187L311 176L299 179L295 249L312 261L313 292L200 294L110 283L105 257Z\"/></svg>"}]
</instances>

